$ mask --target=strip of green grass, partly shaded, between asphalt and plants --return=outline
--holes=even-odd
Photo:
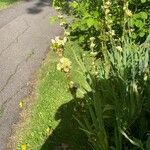
[[[75,45],[75,44],[74,44]],[[85,88],[87,84],[75,61],[72,46],[68,44],[65,56],[72,60],[72,79]],[[78,53],[80,52],[80,48]],[[29,150],[54,150],[64,144],[70,150],[90,149],[83,131],[79,129],[73,115],[80,102],[82,94],[78,92],[78,99],[73,100],[68,91],[68,81],[64,74],[57,71],[58,57],[50,52],[45,63],[38,72],[36,97],[27,111],[26,122],[17,131],[17,149],[27,144]]]

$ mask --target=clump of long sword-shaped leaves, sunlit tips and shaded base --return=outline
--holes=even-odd
[[[87,113],[78,122],[95,150],[148,150],[149,50],[128,40],[123,44],[122,52],[108,52],[109,63],[103,60],[96,71],[84,71],[91,92],[85,95]],[[86,64],[79,58],[78,63]]]

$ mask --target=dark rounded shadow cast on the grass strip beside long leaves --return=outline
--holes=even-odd
[[[76,98],[63,104],[57,110],[55,119],[60,120],[59,125],[47,138],[41,150],[91,150],[87,137],[79,129],[79,124],[74,116],[82,116],[83,99]]]

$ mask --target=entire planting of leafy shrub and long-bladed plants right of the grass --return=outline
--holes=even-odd
[[[77,120],[92,148],[149,150],[150,2],[64,3],[59,6],[73,15],[71,40],[90,55],[75,58],[91,87],[84,89],[85,114]]]

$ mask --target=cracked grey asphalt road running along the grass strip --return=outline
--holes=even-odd
[[[0,150],[6,150],[19,102],[29,94],[28,82],[47,54],[50,39],[62,33],[50,25],[57,13],[49,0],[30,0],[0,11]]]

